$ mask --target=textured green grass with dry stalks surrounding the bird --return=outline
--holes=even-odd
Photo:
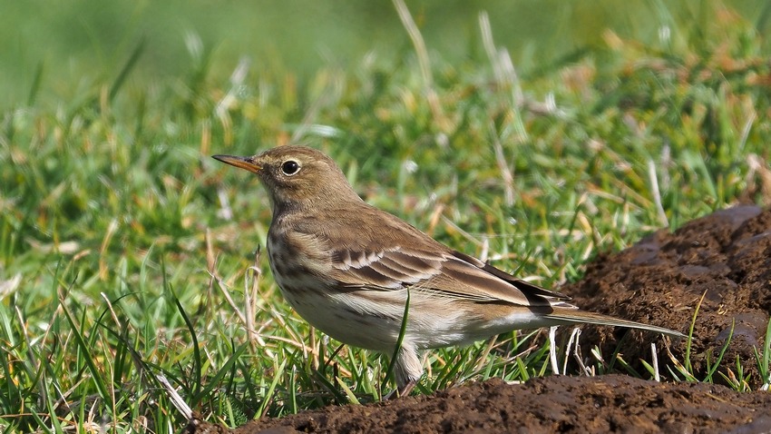
[[[157,374],[229,426],[392,387],[387,360],[281,300],[259,255],[267,195],[212,153],[309,143],[367,202],[547,287],[661,226],[767,201],[767,163],[752,163],[771,143],[765,24],[711,7],[706,27],[609,31],[526,76],[484,31],[486,54],[464,62],[408,46],[307,80],[222,74],[193,36],[190,70],[170,81],[132,82],[147,44],[55,104],[35,74],[0,124],[4,432],[177,432]],[[424,393],[551,371],[536,333],[426,357]],[[742,388],[741,367],[719,373]]]

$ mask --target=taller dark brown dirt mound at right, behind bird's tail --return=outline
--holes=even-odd
[[[755,349],[762,349],[771,311],[771,211],[739,206],[688,222],[674,233],[655,232],[623,252],[592,261],[584,279],[561,291],[588,311],[686,334],[703,295],[690,354],[697,379],[705,379],[708,364],[714,364],[730,337],[720,371],[736,373],[738,358],[749,375],[747,383],[756,389],[764,379]],[[663,339],[623,329],[585,330],[584,344],[599,345],[609,358],[620,350],[638,370],[640,359],[650,360],[650,341]],[[667,362],[661,343],[659,362]],[[671,343],[682,363],[687,343]],[[723,379],[716,374],[713,380]]]

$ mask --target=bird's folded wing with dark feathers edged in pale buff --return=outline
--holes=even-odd
[[[561,306],[569,297],[514,278],[460,252],[421,251],[394,246],[380,252],[333,252],[331,278],[348,288],[415,288],[438,297],[472,301],[507,301],[522,306]]]

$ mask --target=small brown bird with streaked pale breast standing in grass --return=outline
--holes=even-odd
[[[591,323],[681,333],[579,311],[570,297],[521,281],[434,241],[354,192],[327,155],[279,146],[251,157],[214,155],[268,189],[270,270],[299,315],[332,338],[393,354],[397,393],[423,374],[418,351],[518,329]]]

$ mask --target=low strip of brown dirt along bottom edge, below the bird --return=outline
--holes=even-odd
[[[771,394],[624,375],[473,383],[434,396],[255,420],[234,433],[288,432],[768,432]],[[227,432],[193,423],[191,432]]]

